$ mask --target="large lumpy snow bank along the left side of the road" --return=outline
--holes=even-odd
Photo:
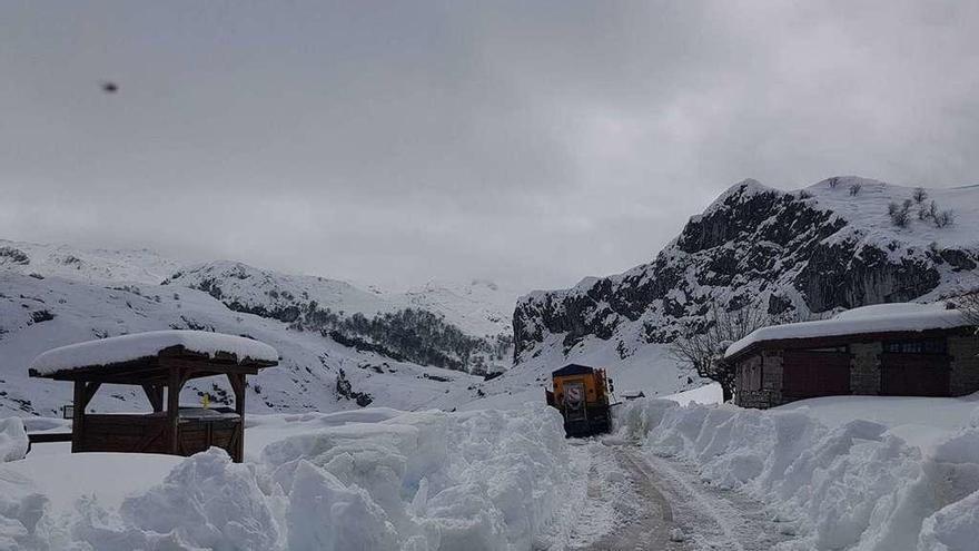
[[[556,411],[363,412],[255,416],[246,463],[211,449],[121,504],[46,504],[30,528],[0,510],[0,541],[109,551],[520,550],[566,499]],[[268,445],[256,450],[253,435]],[[0,482],[6,474],[0,468]]]

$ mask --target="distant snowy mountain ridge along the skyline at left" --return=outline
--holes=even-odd
[[[522,293],[485,279],[462,284],[432,281],[395,293],[373,285],[360,288],[339,279],[283,274],[238,262],[188,264],[149,249],[87,249],[7,239],[0,239],[0,269],[90,283],[156,285],[169,281],[196,288],[218,284],[227,296],[246,307],[271,312],[295,305],[297,301],[290,297],[317,301],[334,312],[365,316],[413,307],[444,316],[467,335],[491,338],[513,333],[513,307]]]

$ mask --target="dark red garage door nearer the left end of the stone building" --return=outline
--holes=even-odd
[[[790,400],[850,394],[850,354],[785,351],[782,395]]]

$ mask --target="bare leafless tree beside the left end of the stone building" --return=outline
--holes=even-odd
[[[704,323],[692,327],[670,345],[671,355],[681,364],[694,370],[698,375],[716,381],[724,393],[724,402],[734,396],[736,373],[733,365],[724,363],[724,351],[734,341],[740,341],[754,329],[770,324],[769,316],[761,309],[745,306],[728,311],[712,301],[704,316]]]

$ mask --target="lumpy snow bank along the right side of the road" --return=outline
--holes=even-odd
[[[799,534],[782,549],[956,550],[979,541],[977,423],[924,449],[880,423],[830,429],[805,410],[637,400],[619,424],[620,436],[649,453],[693,461],[705,482],[771,505]]]

